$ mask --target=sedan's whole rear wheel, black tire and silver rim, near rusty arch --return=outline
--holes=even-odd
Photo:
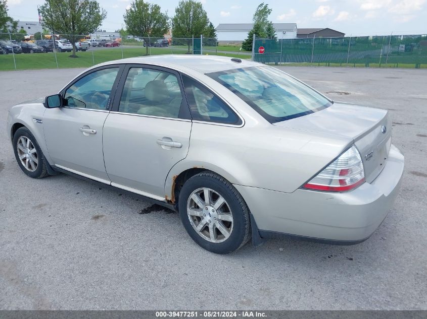
[[[215,253],[237,250],[250,238],[245,201],[229,181],[213,172],[201,172],[184,183],[179,216],[193,240]]]

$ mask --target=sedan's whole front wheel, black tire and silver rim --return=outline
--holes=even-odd
[[[20,127],[13,136],[15,158],[22,171],[32,178],[49,175],[40,147],[26,127]]]

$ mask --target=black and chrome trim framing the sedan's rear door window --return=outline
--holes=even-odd
[[[165,72],[165,73],[172,74],[176,77],[176,79],[178,80],[179,89],[181,90],[181,95],[182,95],[182,101],[181,101],[181,106],[179,107],[178,117],[165,117],[165,116],[156,116],[156,115],[148,115],[148,114],[126,113],[126,112],[120,112],[119,111],[120,100],[121,100],[121,97],[123,94],[123,89],[124,89],[124,85],[125,85],[125,82],[127,79],[127,75],[129,73],[129,70],[132,68],[150,69],[150,70],[154,70],[154,71]],[[138,116],[143,116],[143,117],[153,117],[153,118],[163,118],[163,119],[192,120],[191,112],[190,112],[190,109],[189,109],[189,106],[187,103],[187,99],[185,96],[184,86],[183,86],[182,79],[180,77],[179,72],[172,70],[172,69],[168,69],[168,68],[148,65],[145,63],[129,63],[126,65],[126,67],[123,69],[121,79],[120,79],[118,86],[117,86],[117,90],[116,90],[114,100],[111,104],[112,104],[112,107],[111,107],[110,111],[113,113],[117,113],[117,114],[138,115]]]

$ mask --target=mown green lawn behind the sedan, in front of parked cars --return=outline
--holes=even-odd
[[[174,54],[185,54],[186,48],[173,48]],[[171,54],[172,48],[149,48],[151,55]],[[220,55],[239,58],[250,58],[250,55],[239,55],[234,53],[217,53],[213,51],[206,52],[209,55]],[[121,48],[88,50],[86,52],[78,52],[78,57],[69,57],[71,53],[57,53],[58,68],[88,68],[98,63],[117,60],[127,57],[143,56],[146,54],[146,48],[123,48],[123,56]],[[35,70],[35,69],[56,69],[57,62],[55,55],[52,52],[48,53],[33,53],[33,54],[15,54],[17,70]],[[14,59],[12,54],[0,55],[0,71],[15,70]]]

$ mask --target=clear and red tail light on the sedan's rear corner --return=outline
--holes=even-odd
[[[326,192],[348,192],[365,181],[362,158],[353,145],[313,177],[303,188]]]

